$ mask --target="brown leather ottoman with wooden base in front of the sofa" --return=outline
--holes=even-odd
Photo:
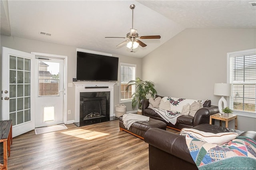
[[[160,129],[166,130],[166,123],[164,123],[163,121],[158,121],[156,119],[151,119],[151,118],[149,118],[148,122],[138,121],[133,123],[128,130],[126,127],[124,127],[122,119],[123,119],[123,116],[120,116],[119,117],[120,130],[121,131],[124,130],[125,132],[128,132],[143,140],[144,140],[144,134],[150,128],[160,128]]]

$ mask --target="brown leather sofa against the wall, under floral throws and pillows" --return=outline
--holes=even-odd
[[[158,95],[156,95],[156,97],[158,97]],[[160,97],[162,98],[162,96]],[[175,125],[172,125],[172,123],[164,121],[164,119],[162,119],[155,111],[148,108],[148,99],[142,100],[140,101],[140,103],[142,104],[142,115],[163,121],[164,123],[166,123],[168,128],[172,128],[174,130],[181,130],[182,128],[192,128],[203,123],[209,123],[210,115],[219,112],[218,106],[212,106],[211,101],[208,100],[203,104],[203,108],[199,109],[196,112],[196,115],[194,117],[189,115],[180,116],[177,118],[177,123]]]

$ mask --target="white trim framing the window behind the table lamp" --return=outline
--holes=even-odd
[[[230,83],[230,57],[233,57],[235,55],[250,55],[250,54],[256,54],[256,48],[227,53],[227,83]],[[231,107],[230,105],[231,97],[227,97],[227,101],[228,101],[228,106]],[[233,113],[238,116],[256,118],[256,113],[254,112],[233,111]]]

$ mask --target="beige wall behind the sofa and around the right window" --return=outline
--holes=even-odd
[[[153,81],[158,95],[218,105],[213,87],[227,82],[227,53],[252,48],[256,29],[186,29],[142,59],[142,79]],[[256,119],[238,117],[238,129],[256,130]]]

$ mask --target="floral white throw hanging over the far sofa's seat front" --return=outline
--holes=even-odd
[[[155,111],[160,117],[162,117],[166,122],[172,123],[172,125],[175,125],[177,122],[177,118],[182,116],[180,113],[173,113],[171,111],[167,111],[164,109],[158,109],[154,107],[150,107],[153,111]]]

